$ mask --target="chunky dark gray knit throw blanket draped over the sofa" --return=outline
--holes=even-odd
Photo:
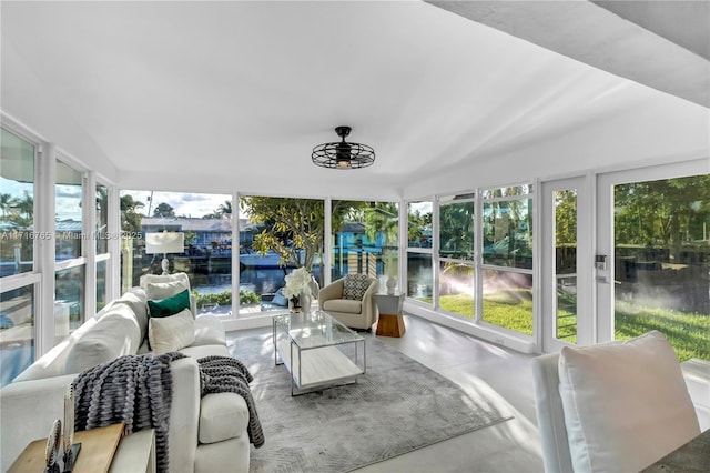
[[[159,472],[170,470],[168,432],[172,403],[170,363],[185,358],[171,352],[161,355],[120,356],[80,373],[74,385],[74,429],[83,431],[124,423],[128,433],[155,429],[155,463]],[[248,436],[254,446],[264,444],[246,366],[227,356],[199,359],[201,394],[234,392],[244,397],[250,411]]]

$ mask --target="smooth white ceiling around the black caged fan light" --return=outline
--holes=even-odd
[[[128,189],[373,198],[424,183],[459,190],[505,182],[480,172],[494,172],[494,162],[505,163],[506,179],[564,172],[567,164],[530,173],[531,150],[549,149],[542,143],[576,137],[559,149],[568,163],[569,147],[625,141],[645,127],[638,147],[623,143],[629,159],[665,147],[707,157],[707,107],[425,2],[0,8],[2,111]],[[348,141],[375,149],[374,165],[311,163],[312,148],[336,141],[341,124],[353,128]],[[676,131],[672,143],[659,127]],[[607,154],[570,165],[618,162]],[[463,170],[474,172],[464,179]]]

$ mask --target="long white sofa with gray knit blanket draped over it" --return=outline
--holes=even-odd
[[[47,436],[52,422],[63,417],[64,392],[79,372],[121,355],[148,351],[148,324],[145,292],[134,288],[0,390],[2,471],[30,441]],[[171,363],[170,471],[248,471],[246,402],[234,393],[200,396],[196,360],[230,356],[220,320],[197,316],[194,342],[179,351],[187,358]]]

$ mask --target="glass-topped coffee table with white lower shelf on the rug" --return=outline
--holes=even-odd
[[[275,315],[273,325],[274,363],[291,373],[291,395],[357,382],[365,373],[365,339],[327,312]]]

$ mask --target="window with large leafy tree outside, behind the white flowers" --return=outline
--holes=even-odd
[[[310,268],[323,286],[325,204],[320,199],[240,198],[240,292],[255,294],[256,306],[242,303],[240,313],[286,310],[284,278]],[[240,295],[242,299],[242,295]]]

